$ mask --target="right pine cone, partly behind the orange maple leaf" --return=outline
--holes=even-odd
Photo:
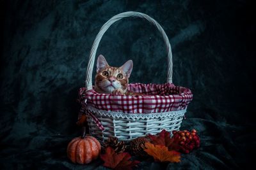
[[[149,139],[145,137],[133,139],[130,143],[131,152],[134,155],[138,155],[141,157],[147,156],[147,153],[144,151],[144,149],[145,149],[145,143],[148,141]]]

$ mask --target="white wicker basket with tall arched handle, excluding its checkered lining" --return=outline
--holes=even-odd
[[[88,62],[87,72],[86,72],[86,89],[91,90],[92,87],[92,71],[95,61],[95,55],[97,48],[99,46],[100,39],[102,38],[104,32],[108,30],[110,25],[114,22],[126,18],[126,17],[139,17],[148,20],[151,24],[155,25],[156,28],[161,32],[164,43],[168,52],[168,73],[167,73],[167,82],[172,83],[172,50],[169,43],[169,39],[166,36],[162,27],[154,20],[153,18],[145,15],[143,13],[128,11],[125,13],[120,13],[115,15],[108,20],[100,29],[97,34],[95,41],[93,42],[92,50],[90,52],[90,59]],[[184,113],[186,113],[186,108],[183,110],[177,111],[168,111],[162,113],[138,113],[138,114],[129,114],[129,113],[120,113],[113,111],[99,110],[91,106],[87,107],[87,110],[90,111],[102,124],[104,131],[101,131],[93,120],[90,114],[88,114],[88,126],[90,129],[90,134],[100,141],[108,139],[108,137],[117,137],[121,141],[131,141],[131,139],[145,136],[146,134],[156,134],[162,129],[166,131],[179,130],[182,118]]]

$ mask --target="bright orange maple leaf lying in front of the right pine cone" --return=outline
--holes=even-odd
[[[180,162],[180,153],[174,150],[168,151],[168,148],[163,145],[154,145],[152,143],[145,143],[145,152],[154,157],[158,162]]]

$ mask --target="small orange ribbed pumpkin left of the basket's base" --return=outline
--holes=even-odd
[[[101,146],[92,136],[74,138],[67,147],[68,158],[78,164],[88,164],[98,158]]]

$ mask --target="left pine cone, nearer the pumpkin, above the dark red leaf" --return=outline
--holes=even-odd
[[[113,148],[116,153],[123,153],[127,148],[124,141],[118,142],[118,138],[111,138],[111,137],[109,137],[108,140],[104,143],[104,148],[107,148],[108,146]]]

